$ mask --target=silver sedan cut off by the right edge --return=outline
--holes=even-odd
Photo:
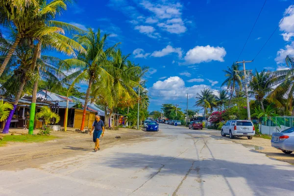
[[[294,127],[272,133],[271,146],[282,150],[285,154],[291,154],[294,151]]]

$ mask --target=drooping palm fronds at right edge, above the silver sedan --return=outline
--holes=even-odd
[[[281,98],[286,98],[287,102],[283,105],[285,110],[293,111],[294,100],[294,58],[287,55],[285,58],[286,65],[290,68],[288,70],[275,71],[273,73],[274,80],[271,82],[275,88],[270,92],[269,99],[271,102],[277,102],[277,105],[282,105],[283,101],[278,101]]]

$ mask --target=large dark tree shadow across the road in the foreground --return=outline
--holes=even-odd
[[[294,167],[291,165],[245,164],[238,160],[236,162],[214,158],[196,160],[141,153],[120,153],[114,158],[105,160],[104,164],[119,169],[148,167],[153,172],[160,169],[161,175],[172,174],[183,177],[190,170],[189,176],[197,179],[199,179],[199,176],[202,179],[203,177],[211,179],[222,176],[227,186],[226,189],[229,189],[232,195],[235,195],[237,190],[240,191],[238,187],[232,185],[232,182],[234,184],[234,181],[238,178],[239,180],[240,178],[246,180],[244,186],[248,186],[248,189],[251,189],[254,195],[270,196],[277,193],[277,190],[281,195],[285,193],[294,195]],[[205,184],[206,182],[202,181],[201,183]]]

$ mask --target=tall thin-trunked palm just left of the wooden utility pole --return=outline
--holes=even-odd
[[[231,104],[231,99],[234,94],[234,90],[237,86],[239,86],[242,89],[242,72],[240,72],[241,65],[238,63],[233,63],[231,67],[228,67],[228,70],[223,70],[225,73],[225,76],[227,77],[224,82],[221,84],[221,86],[226,85],[227,89],[230,89],[230,100],[229,105]]]

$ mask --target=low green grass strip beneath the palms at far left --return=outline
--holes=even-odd
[[[24,143],[34,143],[34,142],[46,142],[57,138],[52,135],[4,135],[2,140],[0,140],[0,147],[5,146],[7,142],[24,142]]]

